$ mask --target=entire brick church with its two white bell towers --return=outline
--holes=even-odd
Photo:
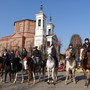
[[[48,53],[51,44],[54,44],[59,53],[59,42],[54,34],[54,27],[52,17],[46,25],[46,15],[43,13],[43,6],[40,5],[36,21],[25,19],[14,22],[14,34],[0,40],[0,51],[5,48],[8,50],[19,49],[20,51],[22,48],[26,48],[27,51],[30,51],[33,46],[38,46],[39,49],[43,46],[43,53],[46,51]]]

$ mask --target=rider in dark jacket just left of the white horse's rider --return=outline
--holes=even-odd
[[[42,60],[42,53],[37,46],[33,48],[32,58],[35,64],[40,63],[38,60]]]

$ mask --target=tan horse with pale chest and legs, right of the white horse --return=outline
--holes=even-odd
[[[69,74],[71,74],[71,80],[73,79],[73,82],[76,83],[75,80],[75,68],[76,68],[76,61],[73,59],[71,55],[71,50],[67,50],[65,52],[66,54],[66,80],[65,84],[67,84],[67,80],[69,77]]]

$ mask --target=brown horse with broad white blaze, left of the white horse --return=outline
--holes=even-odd
[[[33,75],[33,84],[35,84],[35,76],[36,76],[35,74],[36,73],[39,73],[39,81],[40,81],[41,73],[43,74],[43,77],[45,75],[46,65],[43,60],[41,61],[41,63],[37,64],[35,63],[34,59],[27,56],[23,59],[23,66],[24,66],[24,70],[27,70],[27,73],[28,73],[28,84],[30,83],[31,74]]]

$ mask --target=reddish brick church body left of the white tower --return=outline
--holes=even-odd
[[[30,51],[34,45],[35,26],[36,21],[29,19],[14,22],[14,34],[0,40],[0,50],[7,48],[21,51],[25,47]]]

